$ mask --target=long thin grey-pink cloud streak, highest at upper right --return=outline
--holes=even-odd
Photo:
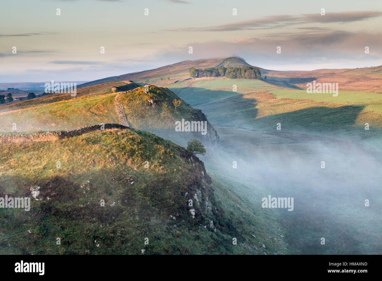
[[[207,26],[202,28],[179,28],[167,31],[238,31],[252,29],[283,28],[286,26],[306,24],[306,23],[345,23],[352,21],[362,21],[366,19],[382,16],[381,11],[348,11],[342,13],[326,13],[325,16],[316,14],[304,15],[275,15],[264,16],[259,19],[240,21],[217,26]]]

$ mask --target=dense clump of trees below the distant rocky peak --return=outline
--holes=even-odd
[[[261,71],[259,68],[250,66],[220,68],[209,67],[206,69],[191,67],[189,69],[189,74],[193,78],[226,76],[230,79],[261,79]]]

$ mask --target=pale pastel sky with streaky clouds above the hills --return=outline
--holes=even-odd
[[[233,55],[271,70],[382,65],[381,0],[2,0],[0,7],[0,83],[91,81]]]

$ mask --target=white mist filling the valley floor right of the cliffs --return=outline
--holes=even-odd
[[[298,134],[288,138],[274,131],[215,129],[221,149],[202,158],[207,171],[235,179],[239,193],[241,184],[267,188],[269,194],[250,198],[254,205],[269,195],[294,198],[293,211],[280,208],[278,213],[295,253],[382,253],[380,151],[366,149],[361,140],[299,140]]]

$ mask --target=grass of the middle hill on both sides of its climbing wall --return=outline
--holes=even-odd
[[[108,91],[105,87],[102,85],[98,92],[92,92],[95,86],[89,86],[75,98],[32,104],[28,108],[3,113],[0,132],[11,131],[13,123],[16,123],[18,132],[70,130],[94,123],[120,123],[114,104],[117,93],[102,94]],[[144,87],[136,89],[121,98],[130,127],[155,133],[183,146],[192,138],[203,139],[200,132],[175,132],[177,120],[207,120],[200,110],[185,101],[175,109],[172,102],[180,97],[167,88],[150,85],[149,93],[144,91]],[[157,99],[155,108],[148,98]]]

